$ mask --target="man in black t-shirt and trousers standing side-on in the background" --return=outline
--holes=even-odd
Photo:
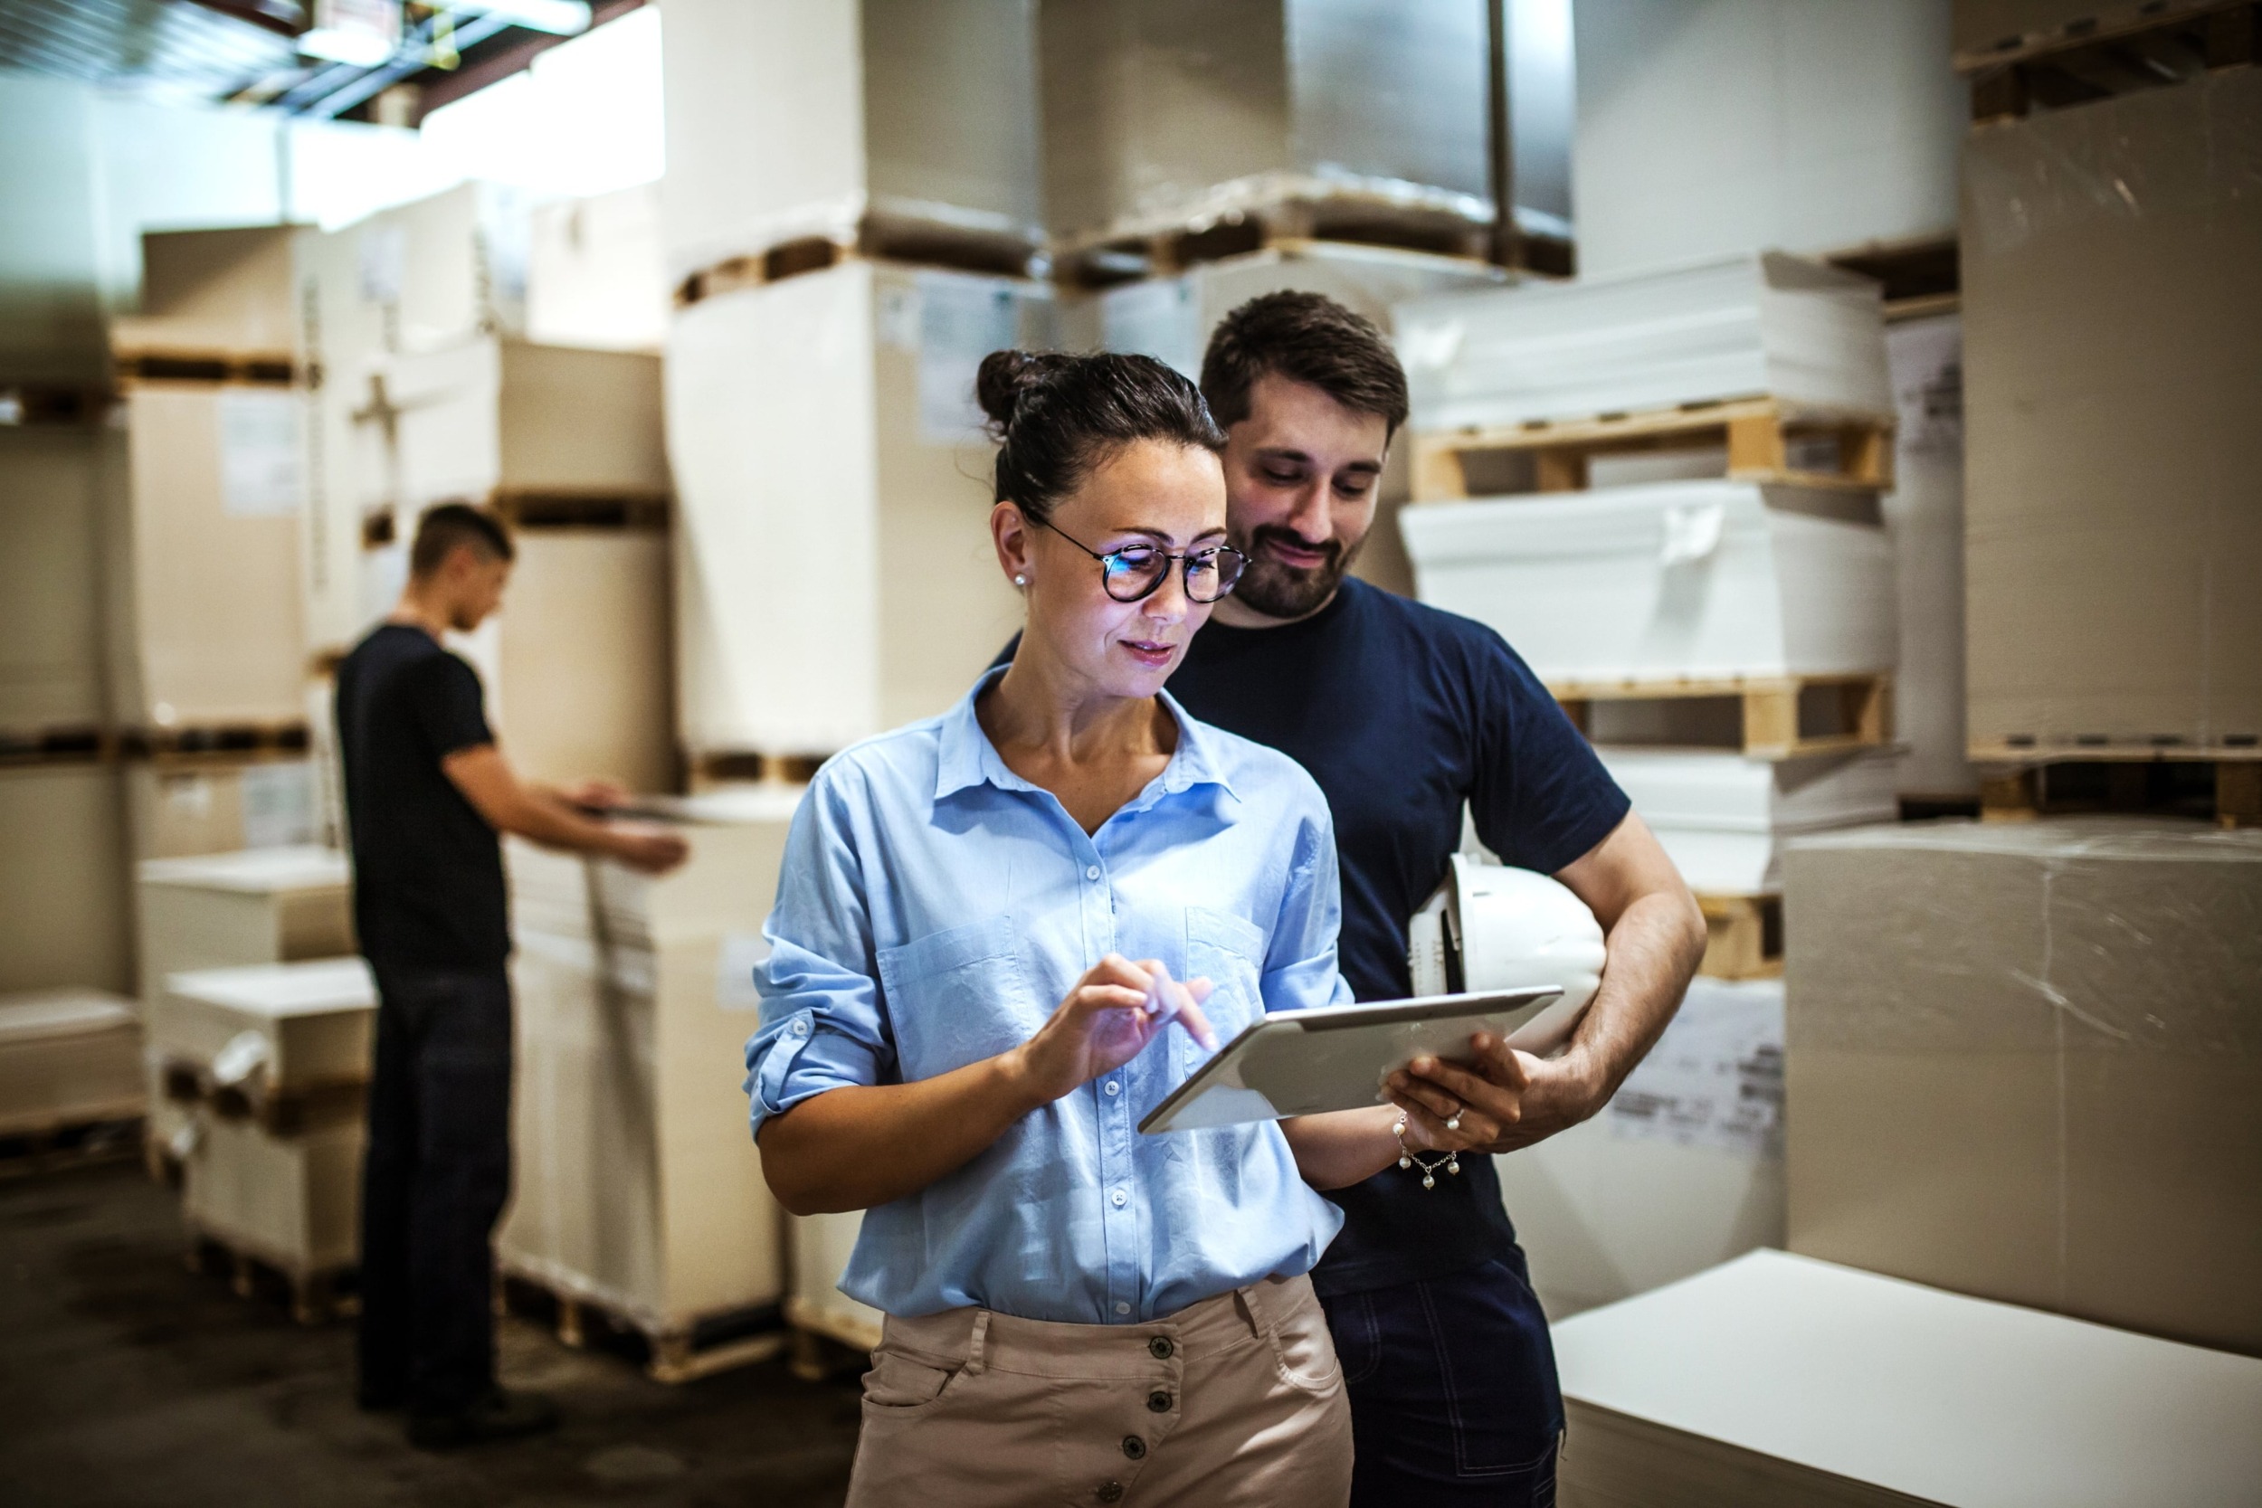
[[[502,832],[661,873],[683,839],[584,807],[615,787],[523,782],[480,676],[441,638],[500,604],[511,538],[464,504],[423,515],[409,583],[337,667],[353,920],[378,979],[362,1182],[360,1402],[409,1409],[430,1449],[550,1429],[495,1381],[493,1230],[511,1185],[511,952]]]

